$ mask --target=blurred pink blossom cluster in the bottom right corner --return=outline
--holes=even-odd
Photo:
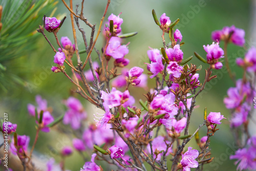
[[[242,148],[238,149],[234,155],[229,157],[230,160],[238,159],[234,164],[238,164],[237,169],[256,169],[256,161],[254,160],[256,157],[256,150],[253,148]]]

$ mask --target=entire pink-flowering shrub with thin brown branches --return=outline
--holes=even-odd
[[[63,3],[68,7],[65,1]],[[28,151],[30,138],[26,135],[17,135],[15,131],[18,126],[8,123],[7,132],[13,134],[11,138],[13,155],[17,155],[22,161],[24,169],[33,170],[35,166],[32,154],[38,140],[38,133],[49,132],[51,127],[63,122],[73,131],[73,147],[64,146],[59,152],[63,159],[71,156],[74,150],[82,157],[84,157],[84,152],[90,153],[91,161],[84,158],[85,163],[81,165],[80,170],[103,170],[97,164],[97,160],[116,165],[118,170],[146,170],[146,167],[151,167],[153,170],[190,170],[190,168],[202,170],[204,164],[214,160],[210,153],[210,137],[219,130],[218,124],[221,124],[222,119],[226,119],[224,117],[226,114],[221,115],[218,111],[208,114],[205,108],[202,117],[199,118],[201,124],[198,129],[191,130],[189,125],[191,117],[194,117],[196,98],[210,80],[216,79],[217,75],[212,75],[212,70],[222,69],[221,58],[226,58],[229,75],[231,79],[234,78],[228,68],[226,47],[229,42],[243,46],[244,31],[234,26],[214,31],[212,39],[217,42],[202,46],[206,52],[205,57],[194,53],[207,68],[205,79],[201,83],[198,72],[202,66],[188,63],[192,56],[186,58],[182,52],[184,45],[184,42],[181,42],[182,33],[178,29],[175,30],[179,19],[171,22],[170,18],[163,13],[159,23],[154,10],[152,11],[153,18],[159,26],[159,31],[162,32],[163,45],[147,51],[149,59],[148,63],[145,61],[147,70],[129,66],[130,61],[125,58],[125,55],[129,53],[129,44],[122,45],[122,39],[137,33],[122,34],[121,24],[125,21],[120,18],[120,14],[118,16],[111,14],[108,17],[108,22],[105,23],[102,31],[102,36],[105,38],[102,53],[96,50],[99,60],[93,61],[92,51],[96,49],[96,41],[100,35],[109,3],[110,1],[106,5],[97,35],[94,39],[90,39],[89,43],[79,22],[83,21],[92,28],[92,35],[94,35],[95,25],[90,24],[82,13],[80,15],[77,14],[78,12],[75,13],[72,6],[68,7],[68,10],[71,14],[74,44],[68,37],[61,37],[59,42],[57,33],[65,18],[60,21],[55,17],[45,16],[44,27],[39,26],[37,29],[45,36],[55,53],[53,61],[56,66],[53,66],[51,70],[55,74],[64,74],[76,86],[76,93],[104,112],[89,114],[77,98],[69,97],[63,101],[67,107],[65,114],[59,118],[53,118],[52,111],[47,106],[47,100],[36,96],[37,106],[28,104],[28,112],[35,118],[37,130],[30,152]],[[77,25],[84,38],[86,58],[82,57],[78,49],[76,39],[78,33],[74,24]],[[54,34],[59,46],[58,51],[48,40],[45,30]],[[165,42],[166,34],[170,41],[169,44]],[[220,47],[219,41],[224,41],[224,50]],[[238,66],[242,67],[245,73],[255,71],[255,52],[252,48],[244,59],[237,59]],[[72,60],[74,54],[77,59],[76,65]],[[87,65],[90,66],[90,70],[84,71]],[[66,72],[67,69],[71,70],[71,74]],[[144,94],[144,100],[135,99],[130,94],[129,88],[132,86],[146,87],[146,74],[156,82],[156,86]],[[238,169],[240,170],[256,168],[255,137],[250,136],[247,130],[255,97],[253,85],[252,80],[244,74],[242,79],[236,81],[236,87],[228,90],[228,97],[224,98],[226,108],[231,109],[232,112],[232,117],[229,119],[232,131],[239,135],[241,125],[243,125],[246,135],[245,139],[245,136],[236,137],[240,149],[230,156],[230,159],[238,159],[236,164],[239,163]],[[125,90],[118,90],[122,87]],[[94,116],[95,122],[87,122],[89,116]],[[163,129],[164,133],[160,129]],[[201,139],[200,129],[207,131]],[[4,126],[2,131],[5,131]],[[194,137],[197,146],[188,146],[188,142]],[[241,140],[243,144],[240,143],[240,139],[243,139]],[[65,170],[63,162],[64,160],[59,166],[61,170]],[[51,159],[47,164],[47,170],[55,170],[55,168],[60,169]]]

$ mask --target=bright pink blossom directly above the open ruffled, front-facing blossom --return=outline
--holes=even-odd
[[[180,50],[180,45],[175,45],[174,48],[165,49],[165,52],[170,61],[180,62],[183,59],[183,52]]]

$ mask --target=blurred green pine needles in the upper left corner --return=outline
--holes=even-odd
[[[2,29],[0,31],[0,87],[7,92],[16,82],[25,85],[17,73],[9,69],[12,60],[22,57],[35,50],[35,42],[39,36],[36,28],[42,20],[42,15],[52,11],[56,5],[53,0],[1,0],[3,7]]]

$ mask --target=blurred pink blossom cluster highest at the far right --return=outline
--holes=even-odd
[[[229,40],[234,45],[237,45],[237,46],[244,46],[245,44],[244,36],[245,36],[244,30],[236,28],[234,26],[224,27],[222,30],[216,30],[211,33],[212,40],[214,41]]]

